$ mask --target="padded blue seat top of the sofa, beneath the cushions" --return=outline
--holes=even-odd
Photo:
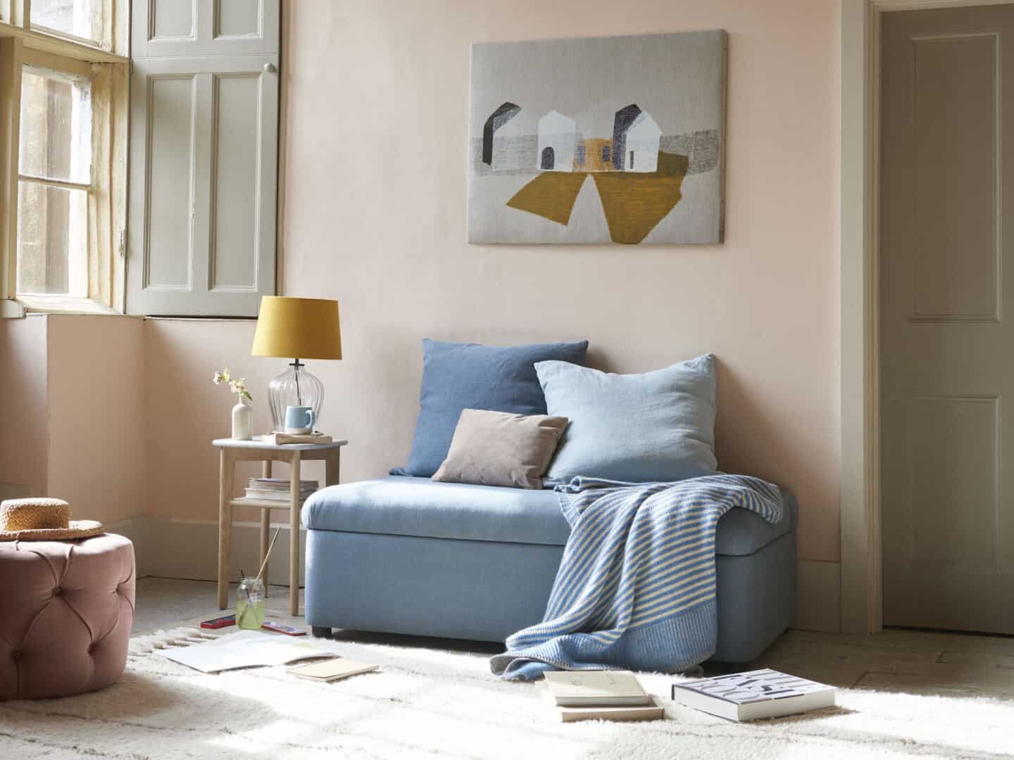
[[[722,517],[715,553],[752,554],[795,530],[796,500],[785,491],[782,497],[785,509],[777,523],[746,510],[731,510]],[[428,477],[384,477],[322,488],[306,500],[303,525],[321,531],[551,546],[563,546],[570,536],[570,524],[553,490],[443,483]]]

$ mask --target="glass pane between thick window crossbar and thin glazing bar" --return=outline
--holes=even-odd
[[[82,184],[91,181],[90,82],[25,67],[18,171]]]

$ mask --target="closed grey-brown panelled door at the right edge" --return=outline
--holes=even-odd
[[[1014,6],[881,43],[883,619],[1014,633]]]

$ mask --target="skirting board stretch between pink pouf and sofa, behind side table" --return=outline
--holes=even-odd
[[[268,583],[289,585],[289,526],[281,528],[268,565]],[[182,578],[191,581],[214,581],[218,578],[218,521],[174,520],[162,517],[135,517],[106,525],[110,533],[119,533],[134,542],[137,576]],[[255,522],[232,524],[232,552],[229,580],[238,581],[242,568],[252,576],[260,566],[261,525]],[[306,531],[299,531],[299,585],[303,585],[306,559]]]

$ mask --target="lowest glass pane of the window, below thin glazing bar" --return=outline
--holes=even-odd
[[[88,194],[20,181],[17,292],[88,295]]]

